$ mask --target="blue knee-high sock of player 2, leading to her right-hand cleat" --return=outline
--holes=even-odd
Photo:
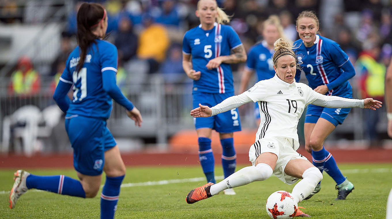
[[[335,180],[336,185],[339,185],[345,181],[345,177],[340,172],[338,165],[336,165],[336,161],[332,154],[323,149],[319,151],[312,150],[312,163],[314,166],[318,167],[322,172],[322,169]],[[322,169],[321,169],[322,168]]]

